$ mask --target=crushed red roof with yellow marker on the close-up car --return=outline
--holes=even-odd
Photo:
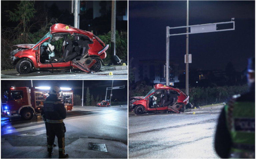
[[[50,29],[50,33],[78,33],[78,34],[83,34],[88,36],[90,39],[93,38],[93,33],[88,32],[88,31],[84,31],[75,27],[72,27],[70,25],[66,25],[66,24],[61,24],[61,23],[57,23],[57,24],[53,24],[51,26]]]

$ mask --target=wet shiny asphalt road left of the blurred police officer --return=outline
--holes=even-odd
[[[129,158],[219,158],[213,144],[220,110],[129,112]]]

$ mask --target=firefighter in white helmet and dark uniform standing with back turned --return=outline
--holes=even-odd
[[[64,104],[58,99],[59,93],[62,92],[60,87],[52,86],[49,90],[49,97],[44,102],[44,113],[46,117],[46,126],[48,131],[48,153],[49,157],[53,153],[53,144],[55,136],[58,138],[59,158],[68,158],[65,154],[65,132],[66,127],[63,119],[66,118],[67,112]]]

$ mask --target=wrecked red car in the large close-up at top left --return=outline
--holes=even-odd
[[[15,46],[18,49],[11,52],[10,58],[20,74],[27,74],[34,69],[71,68],[97,72],[109,47],[93,33],[65,24],[52,25],[50,31],[36,44]]]

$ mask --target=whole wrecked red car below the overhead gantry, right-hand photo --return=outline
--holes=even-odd
[[[184,112],[189,96],[176,88],[156,84],[145,97],[132,97],[129,102],[129,111],[135,114],[145,112]]]

